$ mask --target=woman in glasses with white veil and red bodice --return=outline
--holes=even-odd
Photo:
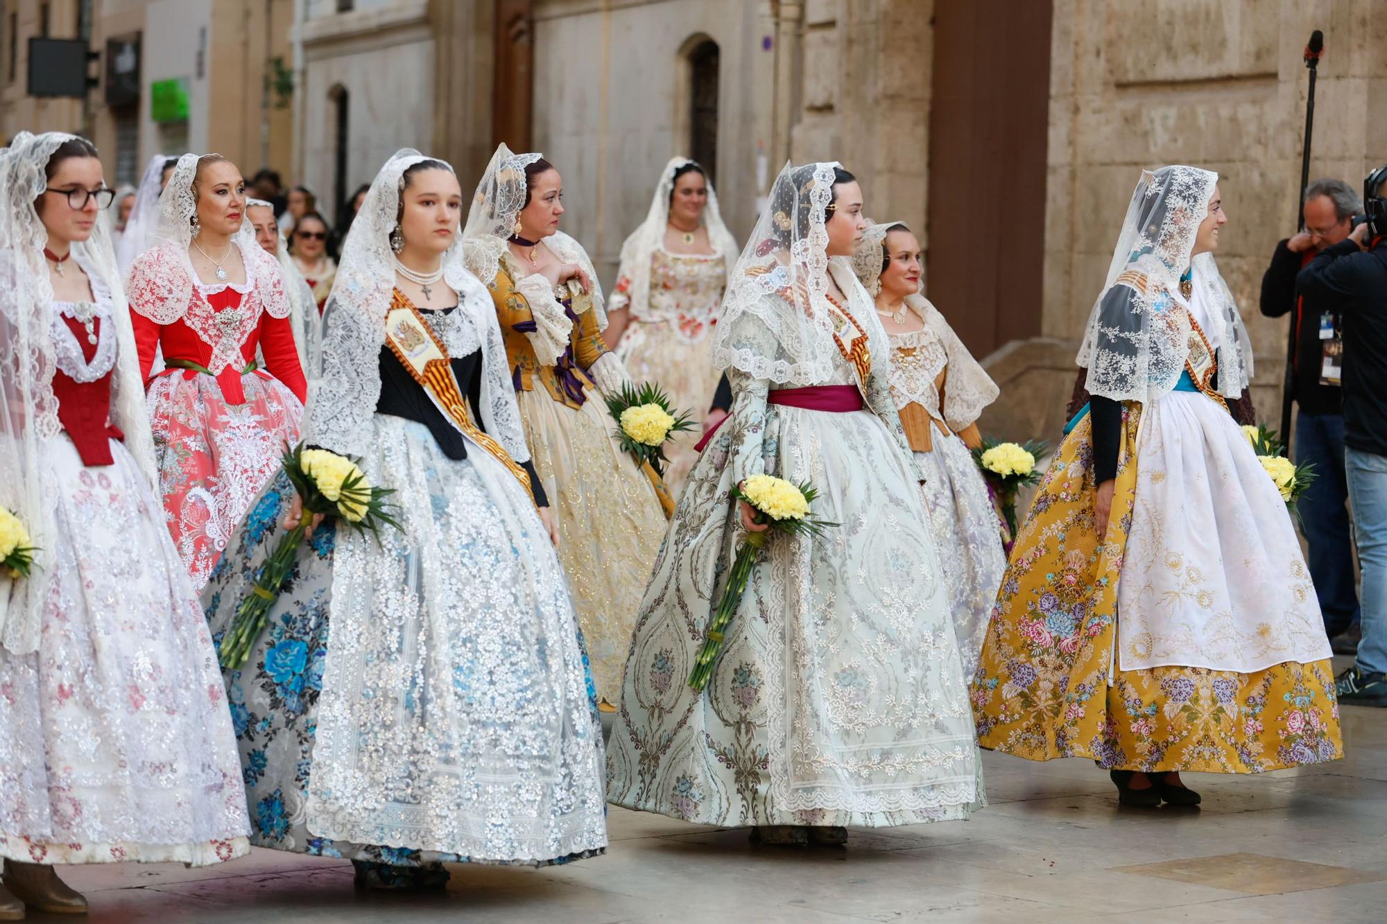
[[[0,918],[80,913],[60,863],[247,852],[216,656],[154,493],[144,388],[86,139],[0,151]],[[8,891],[7,891],[8,889]]]

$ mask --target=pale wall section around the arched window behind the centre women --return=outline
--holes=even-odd
[[[771,137],[767,11],[764,0],[535,3],[534,146],[563,175],[563,228],[588,248],[603,284],[660,169],[685,153],[684,54],[705,36],[720,53],[717,194],[732,233],[750,232],[757,157]]]

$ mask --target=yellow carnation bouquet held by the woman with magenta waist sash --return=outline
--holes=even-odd
[[[748,533],[742,544],[736,548],[732,559],[732,570],[727,576],[723,595],[713,610],[713,619],[707,624],[703,647],[694,658],[694,671],[689,674],[689,687],[703,690],[713,677],[713,662],[723,648],[727,627],[736,613],[742,594],[746,591],[746,581],[752,576],[752,566],[760,556],[760,551],[770,542],[771,536],[818,536],[825,526],[838,526],[825,520],[817,520],[810,515],[810,506],[818,491],[813,484],[793,484],[785,479],[771,474],[753,474],[739,486],[732,488],[732,504],[746,501],[756,516],[756,523],[766,523],[770,529],[764,533]]]

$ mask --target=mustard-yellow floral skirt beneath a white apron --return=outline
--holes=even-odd
[[[1123,411],[1099,541],[1090,418],[1060,444],[1017,533],[972,683],[978,744],[1117,770],[1262,773],[1343,756],[1327,660],[1241,674],[1118,670],[1118,574],[1132,526],[1140,408]]]

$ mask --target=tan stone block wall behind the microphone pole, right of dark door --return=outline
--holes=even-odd
[[[1258,413],[1275,426],[1287,322],[1259,315],[1258,290],[1295,223],[1302,49],[1325,32],[1311,178],[1358,185],[1387,157],[1384,12],[1381,0],[1056,0],[1043,333],[1076,345],[1143,168],[1218,171],[1218,262],[1252,334]]]

